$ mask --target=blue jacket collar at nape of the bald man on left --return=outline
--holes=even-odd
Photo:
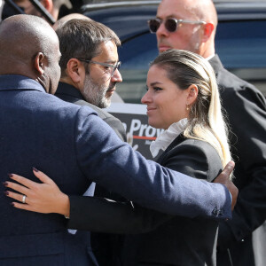
[[[39,90],[46,92],[40,83],[20,74],[0,75],[0,90]]]

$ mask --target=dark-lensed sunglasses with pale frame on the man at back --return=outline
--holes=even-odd
[[[148,25],[150,27],[151,33],[156,33],[158,28],[160,27],[160,24],[163,22],[163,20],[160,19],[153,19],[148,20]],[[175,32],[177,27],[179,25],[182,25],[184,23],[188,24],[206,24],[205,21],[192,21],[192,20],[176,20],[176,19],[167,19],[164,21],[164,27],[168,30],[168,32]]]

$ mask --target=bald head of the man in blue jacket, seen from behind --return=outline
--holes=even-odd
[[[59,39],[43,19],[15,15],[1,23],[0,74],[26,75],[52,92],[59,82],[59,56]]]

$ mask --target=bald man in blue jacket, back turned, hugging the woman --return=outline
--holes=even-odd
[[[145,160],[90,107],[52,96],[59,82],[59,58],[58,37],[44,20],[17,15],[1,23],[2,182],[11,172],[35,180],[31,171],[35,166],[52,176],[66,194],[82,195],[94,181],[172,215],[231,217],[231,197],[223,184],[194,180]],[[231,190],[233,206],[237,191],[226,176],[222,179]],[[63,215],[42,215],[13,208],[4,194],[14,193],[0,194],[1,265],[95,265],[87,234],[66,231],[67,196],[59,200]],[[29,196],[24,187],[16,200],[27,208]]]

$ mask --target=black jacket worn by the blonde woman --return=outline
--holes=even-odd
[[[176,137],[158,162],[208,182],[222,171],[221,159],[211,145],[182,135]],[[74,228],[90,231],[142,233],[126,236],[121,265],[215,265],[217,222],[203,217],[163,215],[137,205],[109,205],[110,209],[101,214],[91,203],[79,205],[80,210],[72,208],[70,223]],[[223,215],[218,209],[214,212]]]

